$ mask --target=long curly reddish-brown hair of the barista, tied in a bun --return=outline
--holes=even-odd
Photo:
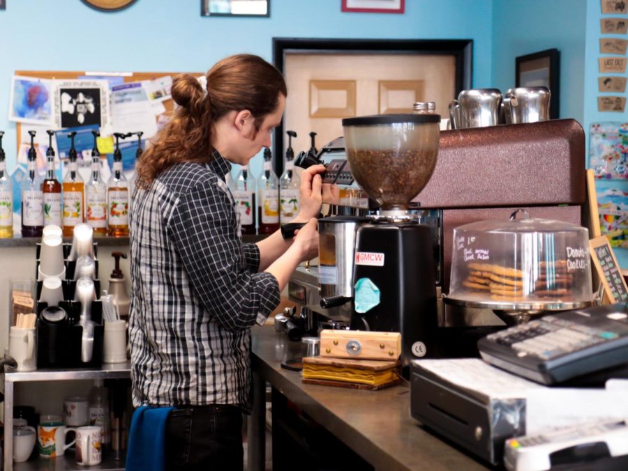
[[[277,109],[279,94],[287,96],[281,72],[251,54],[219,61],[205,78],[207,93],[191,75],[174,77],[172,99],[179,106],[138,160],[137,186],[149,187],[159,173],[179,162],[209,162],[214,123],[228,112],[248,109],[259,130],[264,117]]]

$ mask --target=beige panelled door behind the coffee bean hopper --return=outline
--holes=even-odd
[[[342,118],[311,117],[311,81],[354,81],[356,102],[354,116],[378,114],[380,81],[423,82],[426,101],[436,102],[436,112],[447,115],[447,104],[455,94],[454,56],[419,56],[414,54],[286,54],[284,75],[288,96],[284,123],[286,130],[297,132],[292,139],[295,153],[310,148],[308,133],[317,132],[316,145],[320,148],[343,134]],[[335,92],[322,93],[326,103],[338,100]],[[389,93],[389,99],[398,104],[410,95],[404,91]],[[321,103],[319,103],[321,106]],[[326,105],[327,106],[327,105]],[[394,105],[397,107],[397,105]],[[408,110],[412,103],[408,105]],[[284,143],[284,149],[287,140]]]

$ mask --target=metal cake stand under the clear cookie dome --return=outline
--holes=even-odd
[[[548,314],[551,311],[567,311],[569,309],[581,309],[593,304],[593,301],[530,301],[530,302],[505,302],[494,300],[461,300],[449,298],[445,295],[442,301],[446,304],[458,307],[475,309],[491,309],[506,325],[522,324],[530,321],[530,318]]]

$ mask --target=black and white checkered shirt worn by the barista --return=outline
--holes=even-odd
[[[231,166],[186,162],[137,189],[130,211],[133,405],[251,406],[251,327],[279,304],[277,279],[239,236]]]

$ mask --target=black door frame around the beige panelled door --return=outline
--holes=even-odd
[[[455,94],[472,88],[473,40],[384,40],[384,39],[317,39],[317,38],[273,38],[273,63],[283,72],[285,54],[290,52],[315,52],[321,54],[417,54],[442,55],[455,57],[456,78]],[[290,91],[288,91],[290,93]],[[452,97],[454,98],[454,97]],[[273,155],[275,171],[283,171],[283,137],[285,123],[282,121],[274,131]],[[327,143],[320,143],[327,144]],[[319,146],[320,147],[320,146]],[[299,149],[301,150],[301,149]]]

